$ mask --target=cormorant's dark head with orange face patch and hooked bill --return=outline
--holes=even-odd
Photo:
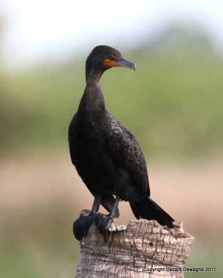
[[[94,47],[86,61],[86,72],[94,69],[105,70],[111,67],[128,67],[135,71],[135,65],[122,58],[122,54],[113,47],[108,47],[106,45],[99,45]]]

